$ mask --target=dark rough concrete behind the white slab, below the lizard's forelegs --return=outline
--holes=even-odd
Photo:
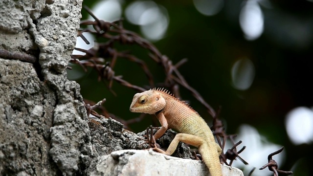
[[[125,130],[123,125],[112,118],[106,119],[90,119],[88,122],[90,128],[91,143],[98,155],[111,154],[114,151],[125,149],[142,150],[147,149],[148,145],[143,144],[144,141],[140,138],[145,138],[146,131],[135,134]],[[154,129],[156,132],[156,129]],[[157,140],[162,147],[168,147],[173,140],[176,132],[168,130],[165,134]],[[139,138],[140,137],[140,138]],[[178,150],[173,156],[180,158],[190,158],[189,147],[183,143],[179,143]],[[95,158],[96,159],[96,158]],[[89,168],[93,169],[93,168]]]

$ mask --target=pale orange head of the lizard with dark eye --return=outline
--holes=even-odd
[[[141,93],[136,93],[130,107],[131,112],[141,112],[155,114],[157,111],[165,107],[165,99],[161,94],[154,90],[147,90]]]

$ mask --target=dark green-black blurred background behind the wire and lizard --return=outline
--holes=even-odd
[[[124,1],[123,9],[131,2]],[[312,143],[292,144],[285,128],[285,117],[290,110],[313,106],[313,2],[271,0],[271,8],[261,6],[264,32],[253,41],[245,39],[239,24],[244,2],[225,0],[218,14],[204,16],[192,0],[156,1],[167,9],[170,22],[165,37],[154,44],[173,64],[188,58],[188,62],[179,68],[180,73],[215,110],[222,106],[220,116],[225,121],[227,133],[237,133],[242,124],[253,126],[271,143],[285,147],[284,162],[278,163],[280,169],[289,171],[292,168],[295,176],[313,175],[308,167]],[[95,3],[84,1],[90,8]],[[83,19],[88,16],[84,10],[82,14]],[[139,27],[127,20],[124,27],[140,34]],[[297,30],[299,27],[306,33]],[[301,43],[303,36],[309,42]],[[162,67],[148,57],[147,50],[133,46],[130,50],[148,64],[156,82],[164,80]],[[250,59],[255,67],[253,83],[247,90],[235,89],[231,80],[231,67],[242,58]],[[142,69],[130,61],[119,59],[114,71],[115,75],[123,75],[123,79],[134,85],[148,85]],[[76,81],[81,85],[84,98],[95,102],[106,98],[104,106],[115,116],[125,120],[138,117],[139,114],[129,111],[134,90],[113,83],[112,89],[117,94],[114,96],[103,82],[97,82],[94,71]],[[180,90],[182,98],[211,124],[212,117],[204,107],[189,91]],[[152,124],[151,117],[147,116],[131,128],[134,132],[145,130]],[[267,155],[264,158],[266,160]],[[258,169],[262,165],[255,167]]]

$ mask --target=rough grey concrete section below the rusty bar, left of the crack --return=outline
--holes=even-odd
[[[32,64],[3,59],[0,92],[0,175],[49,175],[56,169],[48,156],[55,95]]]

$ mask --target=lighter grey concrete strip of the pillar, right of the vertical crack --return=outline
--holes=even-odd
[[[45,82],[56,94],[49,155],[65,175],[81,173],[94,153],[87,114],[77,83],[67,80],[67,65],[75,46],[82,0],[54,0],[45,4],[36,24],[28,17],[29,32],[40,49],[39,63]],[[73,137],[75,136],[75,137]],[[81,158],[84,158],[81,159]]]

